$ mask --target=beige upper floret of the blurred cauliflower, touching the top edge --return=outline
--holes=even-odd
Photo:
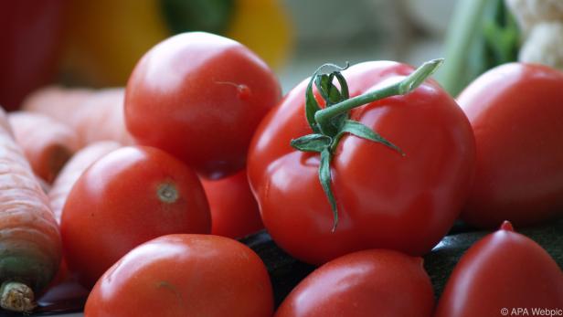
[[[542,22],[563,21],[563,0],[505,0],[525,35]]]

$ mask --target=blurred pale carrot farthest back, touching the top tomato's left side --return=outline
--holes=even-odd
[[[50,87],[24,100],[23,109],[47,114],[67,124],[77,132],[82,146],[102,140],[128,145],[133,144],[133,138],[127,132],[123,119],[124,95],[123,88],[83,90]]]

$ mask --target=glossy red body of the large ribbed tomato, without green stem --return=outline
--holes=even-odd
[[[366,62],[343,72],[351,96],[412,71],[404,64]],[[338,227],[318,180],[319,155],[290,141],[310,133],[304,115],[306,80],[260,123],[248,174],[264,226],[292,256],[313,264],[366,248],[427,253],[458,217],[474,164],[474,140],[463,112],[433,80],[406,96],[352,111],[396,144],[399,153],[345,135],[332,162]]]

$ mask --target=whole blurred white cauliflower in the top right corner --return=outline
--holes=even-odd
[[[520,27],[522,62],[563,69],[563,0],[505,0]]]

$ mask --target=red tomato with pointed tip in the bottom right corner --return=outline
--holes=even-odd
[[[462,256],[435,316],[540,316],[532,310],[558,309],[561,314],[562,308],[563,272],[558,264],[506,222]]]

